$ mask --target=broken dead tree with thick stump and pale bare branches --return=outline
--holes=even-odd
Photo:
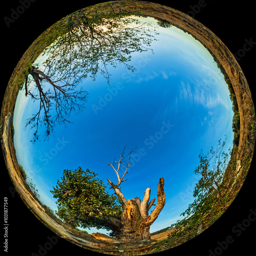
[[[160,211],[163,209],[165,204],[165,194],[164,194],[164,179],[160,178],[158,187],[157,187],[157,205],[150,215],[148,211],[150,208],[155,205],[155,198],[150,201],[151,189],[147,188],[144,193],[144,198],[141,201],[138,197],[134,199],[125,199],[122,194],[119,185],[127,180],[124,179],[127,169],[130,165],[131,154],[134,152],[133,148],[128,155],[125,155],[125,147],[122,154],[119,157],[119,161],[113,161],[109,163],[112,168],[115,170],[115,173],[118,178],[118,183],[114,184],[110,179],[108,179],[108,184],[115,190],[117,197],[119,198],[120,203],[122,204],[123,211],[121,215],[121,226],[118,230],[115,231],[116,238],[124,241],[131,240],[150,240],[150,226],[157,219]],[[121,165],[125,165],[125,171],[122,177],[119,176],[119,170]],[[117,166],[117,167],[116,167]]]

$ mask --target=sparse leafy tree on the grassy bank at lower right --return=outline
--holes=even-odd
[[[225,143],[226,140],[220,140],[216,149],[211,147],[206,155],[200,153],[200,164],[194,171],[201,176],[194,188],[195,200],[182,212],[181,216],[185,218],[172,225],[174,231],[168,236],[172,246],[195,237],[214,223],[227,208],[225,196],[228,190],[224,175],[228,167],[229,153],[223,151]]]

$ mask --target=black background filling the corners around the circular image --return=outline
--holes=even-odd
[[[60,18],[100,2],[102,1],[36,0],[8,28],[4,17],[10,17],[11,9],[16,10],[20,3],[19,1],[1,1],[1,101],[18,60],[36,37]],[[152,2],[167,5],[187,13],[191,10],[191,6],[198,5],[199,0],[169,1],[167,3],[163,1]],[[195,18],[214,32],[232,53],[237,53],[239,49],[243,48],[245,39],[250,40],[252,38],[252,41],[256,42],[256,2],[205,0],[205,3],[206,6],[201,8],[198,14],[195,14]],[[255,92],[256,71],[255,50],[256,45],[238,61],[253,95]],[[4,247],[1,248],[1,254],[3,250],[3,255],[22,256],[31,255],[33,252],[39,255],[39,245],[44,246],[48,242],[47,237],[52,237],[55,233],[32,214],[17,193],[14,194],[14,197],[12,196],[9,188],[13,187],[13,185],[2,156],[1,160],[2,200],[3,203],[4,197],[8,197],[9,200],[9,248],[8,253],[4,251]],[[255,167],[255,158],[252,166]],[[227,236],[231,235],[234,238],[234,242],[228,245],[228,248],[223,250],[221,255],[256,255],[256,221],[251,222],[251,225],[245,231],[242,231],[239,237],[236,237],[236,234],[231,231],[237,223],[242,223],[244,219],[248,218],[250,209],[255,210],[255,180],[255,170],[251,167],[238,196],[218,221],[195,239],[159,254],[207,256],[209,255],[209,250],[214,251],[216,246],[219,246],[217,244],[218,241],[222,242]],[[2,229],[2,232],[4,237],[4,229]],[[4,238],[2,241],[4,242]],[[217,251],[217,253],[219,252]],[[47,251],[46,255],[79,256],[90,255],[91,253],[90,250],[82,249],[64,239],[59,239],[57,244]]]

